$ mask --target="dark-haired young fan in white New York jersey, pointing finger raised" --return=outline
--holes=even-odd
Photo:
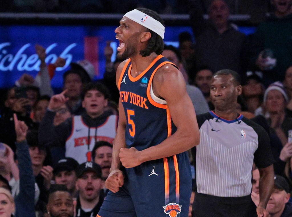
[[[107,110],[109,91],[101,83],[88,83],[82,90],[82,107],[85,112],[74,115],[58,126],[53,126],[55,111],[68,98],[66,90],[53,96],[45,117],[40,123],[40,143],[46,146],[65,146],[65,156],[79,163],[91,161],[91,150],[97,141],[112,143],[116,135],[117,116]]]

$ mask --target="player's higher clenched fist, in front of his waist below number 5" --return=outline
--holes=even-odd
[[[142,162],[140,162],[138,157],[139,151],[134,148],[121,148],[120,149],[120,161],[126,168],[132,168],[134,166],[140,165]]]

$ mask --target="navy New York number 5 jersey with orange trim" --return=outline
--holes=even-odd
[[[134,78],[131,76],[132,64],[129,59],[122,70],[119,91],[128,123],[126,127],[128,148],[135,147],[140,151],[158,145],[177,129],[171,120],[168,105],[159,104],[150,96],[154,74],[165,64],[174,65],[159,55],[146,70]]]

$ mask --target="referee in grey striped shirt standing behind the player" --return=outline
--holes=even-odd
[[[197,115],[201,141],[192,148],[197,192],[192,217],[269,216],[266,211],[274,185],[269,136],[238,114],[239,74],[220,70],[211,80],[214,111]],[[260,203],[251,200],[253,162],[260,171]]]

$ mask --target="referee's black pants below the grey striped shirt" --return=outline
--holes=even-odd
[[[192,217],[256,217],[256,205],[251,195],[244,197],[217,197],[197,193]]]

